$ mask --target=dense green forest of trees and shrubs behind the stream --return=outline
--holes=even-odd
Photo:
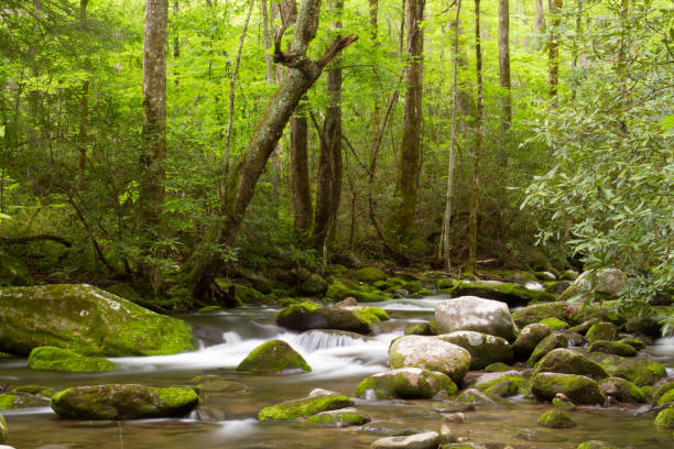
[[[162,3],[165,134],[143,90],[144,45],[157,54],[144,25]],[[278,55],[297,48],[303,17],[292,0],[145,8],[2,2],[6,266],[123,280],[176,308],[205,273],[282,280],[362,261],[618,266],[632,299],[674,285],[670,2],[324,2],[307,55],[358,40],[259,161],[242,211],[250,142],[297,72]]]

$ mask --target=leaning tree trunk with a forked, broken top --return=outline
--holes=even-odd
[[[319,9],[320,0],[303,0],[290,52],[282,53],[278,48],[274,53],[274,62],[289,67],[289,74],[267,105],[244,154],[232,169],[229,178],[230,188],[227,189],[228,196],[221,199],[222,220],[209,231],[187,266],[189,270],[187,281],[194,286],[196,300],[210,302],[214,297],[219,299],[222,296],[215,285],[215,277],[222,261],[214,248],[233,245],[256,184],[264,172],[267,161],[281,139],[293,111],[318,79],[323,68],[357,39],[354,35],[338,39],[319,61],[309,59],[306,50],[318,29]]]

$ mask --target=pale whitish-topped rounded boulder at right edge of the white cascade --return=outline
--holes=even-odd
[[[393,370],[413,366],[439,371],[459,382],[470,366],[470,353],[435,337],[404,336],[389,348],[389,365]]]

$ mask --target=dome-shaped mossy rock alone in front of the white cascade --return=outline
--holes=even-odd
[[[237,371],[309,372],[312,368],[306,363],[306,360],[285,341],[270,340],[253,349],[246,359],[239,363]]]

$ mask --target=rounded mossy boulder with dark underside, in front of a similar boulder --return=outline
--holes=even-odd
[[[557,393],[577,404],[604,404],[606,396],[597,382],[577,374],[540,373],[531,381],[531,392],[539,399],[552,401]]]

